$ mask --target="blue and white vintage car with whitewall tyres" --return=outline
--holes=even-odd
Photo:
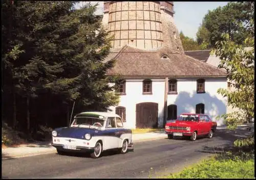
[[[133,146],[132,130],[123,127],[120,116],[105,112],[83,112],[74,117],[70,127],[52,131],[52,146],[61,154],[65,151],[90,152],[99,158],[108,149],[127,152]]]

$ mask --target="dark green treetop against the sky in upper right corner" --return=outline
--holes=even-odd
[[[208,44],[208,48],[215,47],[221,34],[228,33],[232,41],[248,46],[244,40],[254,36],[254,32],[248,31],[251,23],[254,29],[254,2],[230,2],[208,11],[198,30],[197,41],[200,45]]]

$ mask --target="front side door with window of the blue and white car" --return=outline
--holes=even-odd
[[[116,121],[115,121],[115,117],[109,117],[106,120],[106,127],[105,127],[105,132],[104,132],[104,144],[103,146],[105,146],[106,149],[112,149],[112,148],[116,148],[117,144],[118,144],[118,137],[116,135]],[[104,149],[105,149],[104,148]]]

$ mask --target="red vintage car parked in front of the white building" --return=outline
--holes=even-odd
[[[206,114],[183,113],[174,122],[165,124],[165,132],[168,139],[172,139],[174,136],[187,136],[195,141],[197,136],[201,135],[211,138],[216,127],[217,123],[211,121]]]

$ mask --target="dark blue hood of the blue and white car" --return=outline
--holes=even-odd
[[[55,131],[58,133],[57,137],[81,139],[87,133],[90,133],[93,136],[97,130],[86,127],[60,127],[56,128]]]

